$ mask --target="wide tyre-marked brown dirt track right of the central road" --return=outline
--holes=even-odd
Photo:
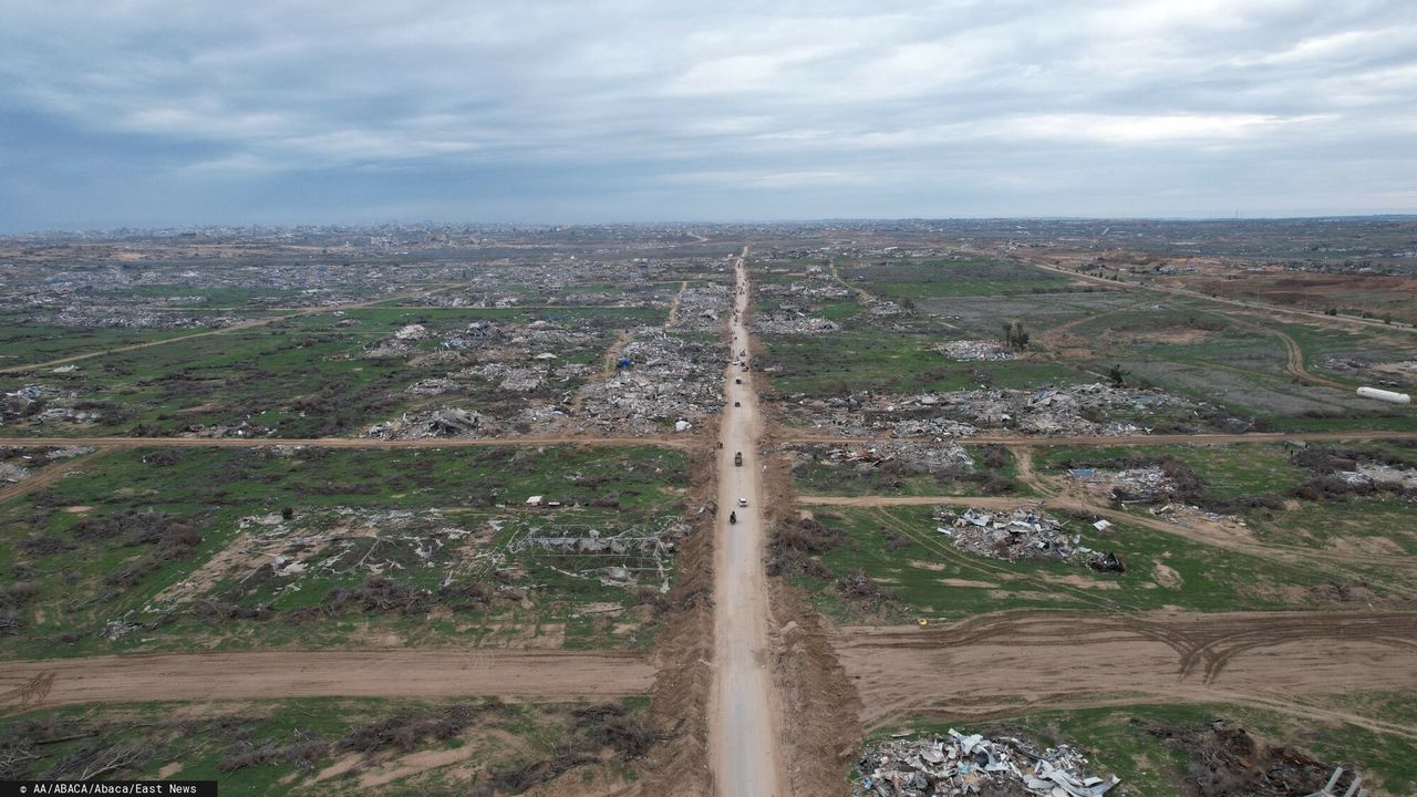
[[[867,726],[915,712],[954,719],[1219,702],[1417,739],[1417,726],[1322,701],[1417,688],[1411,613],[990,614],[924,628],[846,627],[833,647]]]

